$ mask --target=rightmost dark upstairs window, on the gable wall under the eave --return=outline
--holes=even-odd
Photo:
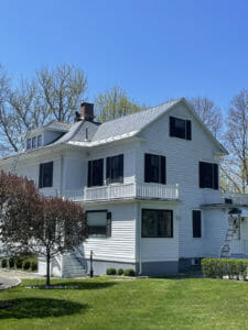
[[[218,165],[213,163],[200,162],[200,188],[218,189]]]

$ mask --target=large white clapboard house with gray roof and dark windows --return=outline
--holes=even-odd
[[[87,211],[88,239],[54,258],[54,275],[88,273],[90,251],[95,274],[163,275],[204,256],[248,255],[248,197],[219,190],[226,154],[185,99],[103,124],[83,103],[75,123],[33,130],[15,169]],[[14,160],[1,158],[0,169]]]

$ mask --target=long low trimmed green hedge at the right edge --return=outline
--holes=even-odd
[[[248,261],[233,258],[207,257],[202,260],[202,271],[205,277],[223,277],[224,275],[242,275],[248,267]]]

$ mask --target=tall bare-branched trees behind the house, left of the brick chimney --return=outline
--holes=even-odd
[[[42,68],[34,78],[21,79],[14,89],[0,67],[0,148],[17,152],[28,130],[50,120],[72,121],[86,90],[87,78],[74,66]]]

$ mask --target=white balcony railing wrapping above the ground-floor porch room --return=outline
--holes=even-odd
[[[43,190],[43,189],[42,189]],[[82,190],[56,189],[42,191],[46,196],[61,196],[73,201],[95,202],[126,199],[179,201],[179,185],[127,183],[99,187],[85,187]]]

